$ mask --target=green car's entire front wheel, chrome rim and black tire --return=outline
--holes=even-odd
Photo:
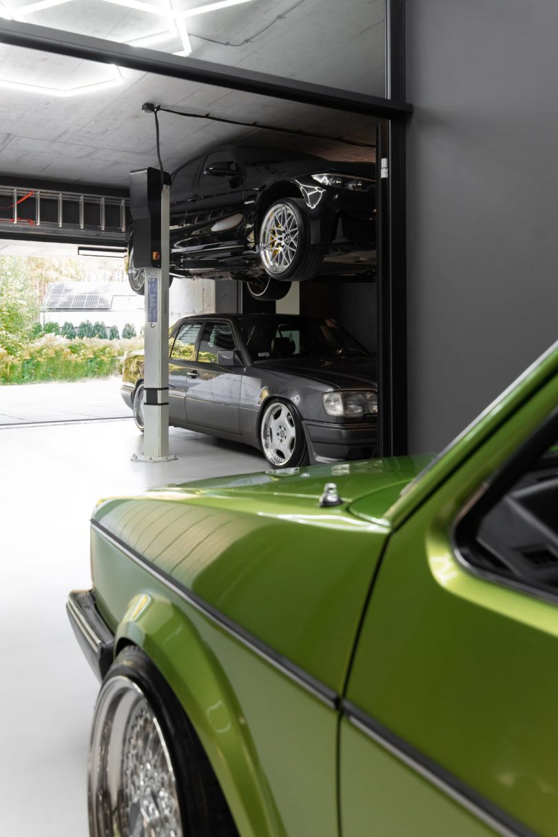
[[[183,837],[238,837],[177,696],[134,645],[120,652],[103,680],[89,765],[91,834],[169,834],[180,824]]]

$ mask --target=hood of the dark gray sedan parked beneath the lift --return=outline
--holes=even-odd
[[[377,363],[373,357],[368,356],[289,357],[258,361],[254,366],[308,377],[339,389],[376,388]]]

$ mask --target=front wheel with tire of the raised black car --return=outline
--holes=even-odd
[[[279,218],[277,223],[283,226],[274,227],[274,218]],[[272,254],[283,253],[285,259],[284,264],[275,267],[271,264],[273,255],[266,255],[273,241],[277,243],[277,251],[272,250]],[[310,244],[310,218],[302,198],[279,198],[270,204],[259,225],[258,244],[262,267],[280,282],[312,279],[324,259],[324,254]]]

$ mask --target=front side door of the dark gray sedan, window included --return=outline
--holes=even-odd
[[[187,424],[239,434],[238,404],[243,367],[219,365],[219,352],[236,350],[233,328],[226,321],[207,321],[197,350],[197,361],[187,372]]]

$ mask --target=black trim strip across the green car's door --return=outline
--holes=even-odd
[[[452,798],[455,802],[474,814],[477,819],[487,824],[496,834],[502,837],[537,837],[535,831],[527,828],[523,823],[506,814],[498,806],[489,802],[482,794],[470,788],[468,784],[461,781],[445,770],[431,758],[412,747],[402,738],[397,736],[390,729],[385,727],[376,718],[372,718],[363,712],[358,706],[350,701],[342,701],[341,712],[346,716],[347,721],[353,727],[363,732],[366,736],[376,742],[400,762],[407,765],[415,773],[418,773],[427,782]]]

